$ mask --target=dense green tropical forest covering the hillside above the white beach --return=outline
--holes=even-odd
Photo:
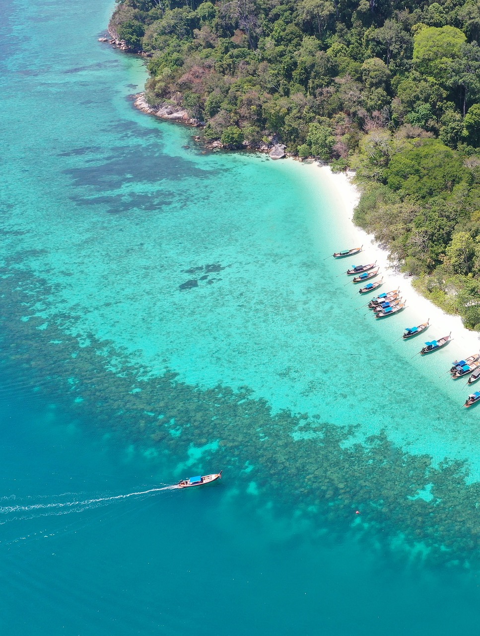
[[[480,330],[480,0],[120,0],[152,106],[355,171],[355,223]]]

